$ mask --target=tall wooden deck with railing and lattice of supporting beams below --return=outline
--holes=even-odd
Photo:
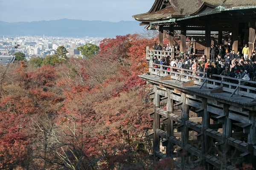
[[[140,77],[154,85],[154,161],[170,157],[180,169],[256,166],[256,82],[218,75],[207,80],[197,76],[205,72],[153,65],[150,60],[150,71]]]

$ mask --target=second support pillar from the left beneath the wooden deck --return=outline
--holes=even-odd
[[[170,119],[171,113],[173,113],[173,99],[171,99],[171,89],[167,88],[167,105],[166,105],[166,113],[168,117],[168,125],[166,128],[166,137],[168,139],[168,143],[166,146],[166,157],[173,157],[173,143],[170,141],[170,136],[173,136],[173,120]]]

